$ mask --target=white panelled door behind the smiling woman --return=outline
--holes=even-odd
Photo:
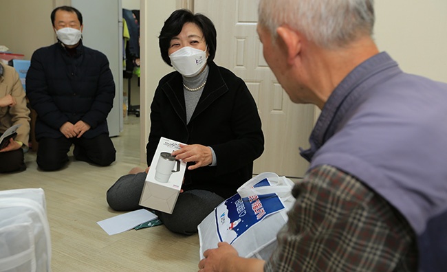
[[[194,12],[208,16],[217,30],[215,63],[243,78],[256,100],[265,136],[263,155],[254,174],[276,172],[303,177],[308,163],[299,155],[307,148],[315,106],[290,102],[262,54],[256,32],[257,0],[195,0]]]

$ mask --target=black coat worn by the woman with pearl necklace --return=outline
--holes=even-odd
[[[217,166],[186,170],[182,188],[208,190],[228,198],[251,179],[253,161],[264,150],[264,137],[257,106],[245,82],[215,63],[208,65],[204,91],[188,124],[182,75],[174,71],[160,80],[151,104],[147,163],[151,165],[160,137],[210,146]]]

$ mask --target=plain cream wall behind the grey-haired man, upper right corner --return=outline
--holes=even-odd
[[[447,82],[446,11],[446,0],[375,0],[375,41],[404,71]]]

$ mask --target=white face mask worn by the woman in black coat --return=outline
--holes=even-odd
[[[169,58],[173,67],[187,78],[197,76],[206,65],[206,51],[188,46],[178,49]]]

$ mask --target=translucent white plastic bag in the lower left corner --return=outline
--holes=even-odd
[[[45,193],[0,191],[0,271],[51,271]]]

